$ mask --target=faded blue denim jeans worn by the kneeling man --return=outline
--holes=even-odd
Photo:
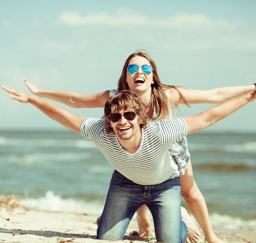
[[[184,243],[188,228],[181,219],[180,200],[180,177],[157,185],[139,185],[114,171],[97,239],[123,239],[134,213],[146,204],[153,216],[157,242]]]

